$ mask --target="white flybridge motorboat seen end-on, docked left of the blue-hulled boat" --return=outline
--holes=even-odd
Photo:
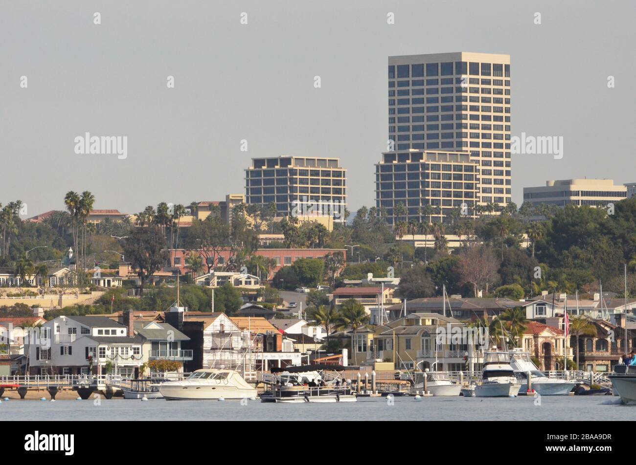
[[[481,384],[475,386],[476,397],[510,397],[519,393],[521,383],[510,366],[508,352],[488,352],[484,356]]]

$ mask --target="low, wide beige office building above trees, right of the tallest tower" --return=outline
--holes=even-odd
[[[533,205],[607,206],[627,198],[627,187],[611,179],[563,179],[541,187],[523,187],[523,201]]]

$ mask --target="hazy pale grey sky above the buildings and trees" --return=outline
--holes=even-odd
[[[0,202],[21,199],[32,216],[64,208],[69,190],[125,213],[219,200],[244,192],[252,157],[286,154],[340,157],[354,212],[373,205],[386,150],[387,57],[449,51],[511,55],[513,136],[564,138],[562,159],[513,155],[513,201],[546,179],[636,181],[635,11],[580,0],[3,1]],[[86,131],[127,136],[127,158],[75,154]]]

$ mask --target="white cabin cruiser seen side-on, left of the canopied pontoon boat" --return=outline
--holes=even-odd
[[[256,398],[256,389],[233,370],[204,368],[183,381],[164,382],[159,392],[167,400],[218,400]]]

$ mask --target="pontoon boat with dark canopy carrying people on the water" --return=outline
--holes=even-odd
[[[356,394],[340,376],[331,375],[343,367],[333,365],[304,365],[298,367],[273,368],[272,374],[263,377],[269,388],[261,394],[261,402],[355,402]],[[327,375],[325,370],[329,370]]]

